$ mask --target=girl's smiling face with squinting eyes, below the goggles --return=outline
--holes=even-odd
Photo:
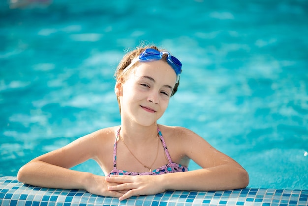
[[[121,118],[150,126],[163,115],[176,83],[176,74],[163,60],[137,63],[125,83],[116,83]]]

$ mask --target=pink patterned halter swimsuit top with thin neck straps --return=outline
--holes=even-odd
[[[164,146],[166,156],[169,160],[169,163],[166,165],[161,166],[160,168],[157,168],[151,172],[129,172],[124,170],[118,170],[117,169],[117,140],[119,138],[120,134],[120,128],[117,131],[117,137],[115,140],[114,148],[113,148],[113,170],[109,173],[110,175],[159,175],[159,174],[167,174],[167,173],[174,173],[174,172],[185,172],[188,171],[188,168],[186,166],[180,165],[178,163],[172,162],[170,154],[168,152],[166,143],[164,141],[164,138],[162,137],[161,131],[159,128],[157,128],[159,138],[162,142],[162,145]]]

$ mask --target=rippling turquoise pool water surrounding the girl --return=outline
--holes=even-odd
[[[307,2],[176,2],[1,1],[0,176],[120,124],[113,72],[126,48],[147,40],[183,63],[161,124],[234,158],[249,187],[308,189]],[[102,174],[93,161],[74,169]]]

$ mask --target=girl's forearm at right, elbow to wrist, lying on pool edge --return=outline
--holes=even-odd
[[[245,188],[249,183],[243,168],[220,165],[212,168],[161,175],[166,190],[229,190]]]

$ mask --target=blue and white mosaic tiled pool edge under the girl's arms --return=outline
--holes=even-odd
[[[307,206],[308,190],[245,188],[227,191],[167,191],[157,195],[117,198],[84,190],[24,185],[16,177],[0,177],[1,206]]]

